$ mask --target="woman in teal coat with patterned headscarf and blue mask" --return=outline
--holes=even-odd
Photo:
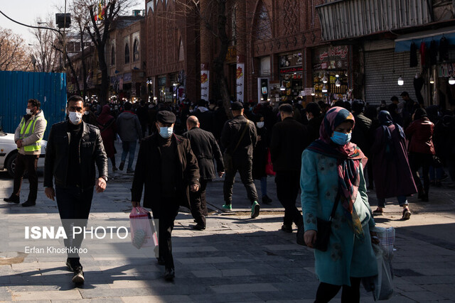
[[[316,275],[321,281],[316,302],[330,301],[341,287],[341,302],[360,302],[361,278],[378,275],[371,246],[378,238],[371,238],[375,221],[363,177],[367,159],[350,143],[354,124],[349,111],[333,107],[321,123],[319,140],[302,153],[301,206],[307,246],[313,247],[316,241],[316,217],[328,221],[339,197],[328,249],[314,250]]]

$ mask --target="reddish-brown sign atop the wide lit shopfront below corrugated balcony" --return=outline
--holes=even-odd
[[[348,45],[318,48],[313,55],[314,70],[346,70],[348,68]]]

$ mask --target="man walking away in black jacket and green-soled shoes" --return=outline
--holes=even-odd
[[[237,170],[242,183],[247,189],[248,199],[251,201],[251,217],[259,216],[257,191],[252,178],[253,148],[257,143],[255,123],[243,116],[243,106],[239,101],[231,105],[233,119],[226,121],[221,132],[221,145],[224,150],[225,182],[223,193],[225,204],[223,209],[232,210],[232,187]]]

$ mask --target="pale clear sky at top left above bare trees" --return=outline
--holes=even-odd
[[[67,0],[67,8],[70,1]],[[145,9],[145,0],[137,0],[136,2],[139,5],[132,9]],[[44,20],[49,15],[53,16],[55,22],[55,13],[63,13],[63,6],[65,6],[65,0],[0,0],[0,11],[10,18],[28,25],[33,25],[38,17]],[[9,21],[1,14],[0,27],[10,28],[14,33],[21,35],[27,43],[36,43],[33,34],[30,32],[31,28]]]

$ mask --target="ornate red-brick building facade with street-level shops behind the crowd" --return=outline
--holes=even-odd
[[[346,94],[348,88],[353,89],[350,74],[352,48],[342,45],[332,49],[328,43],[321,42],[315,6],[322,2],[227,2],[225,16],[230,46],[224,70],[232,99],[279,101],[295,99],[305,91],[310,98],[309,88],[314,88],[315,76],[319,81],[327,74],[335,91],[334,75],[341,72],[342,93]],[[220,45],[213,34],[217,28],[217,8],[210,3],[202,0],[194,10],[182,1],[146,1],[146,76],[153,82],[153,94],[157,99],[173,101],[174,94],[175,99],[183,94],[191,100],[219,98],[217,84],[213,81],[213,60]],[[206,23],[213,30],[206,27]],[[321,67],[321,62],[314,60],[320,53],[335,55],[323,57]],[[341,59],[340,54],[343,60],[337,62]],[[327,58],[335,60],[335,65],[326,62]],[[316,74],[315,66],[319,68]],[[332,77],[327,72],[331,67],[334,70]],[[317,85],[316,96],[311,99],[326,99],[327,94],[322,94],[322,88]],[[337,87],[337,91],[341,92],[341,89]]]

